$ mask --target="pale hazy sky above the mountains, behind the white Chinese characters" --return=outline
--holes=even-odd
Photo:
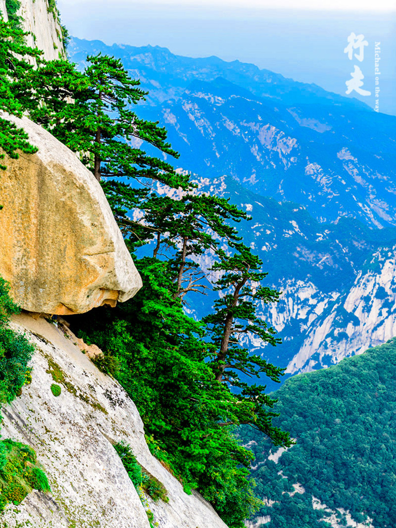
[[[290,0],[200,0],[199,4],[58,0],[63,23],[82,39],[159,45],[192,57],[239,59],[344,95],[353,71],[353,62],[344,54],[347,37],[351,32],[364,34],[368,45],[359,66],[363,88],[372,96],[360,98],[374,106],[374,43],[380,42],[380,111],[396,114],[396,0],[299,0],[298,8],[296,4]],[[370,12],[373,5],[375,11]]]

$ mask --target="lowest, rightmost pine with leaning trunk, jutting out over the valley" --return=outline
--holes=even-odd
[[[275,337],[275,329],[268,327],[257,315],[260,304],[274,303],[280,294],[262,286],[268,274],[261,270],[262,262],[250,248],[241,242],[231,242],[229,246],[232,254],[220,250],[220,261],[211,268],[220,274],[214,289],[223,295],[214,301],[214,313],[203,318],[210,327],[214,345],[210,365],[216,380],[229,386],[240,402],[235,408],[234,423],[250,423],[265,432],[275,445],[290,446],[288,433],[272,426],[272,418],[277,414],[268,409],[274,406],[276,400],[265,393],[266,386],[243,381],[265,374],[279,382],[279,376],[284,372],[284,369],[268,363],[257,354],[251,354],[246,346],[241,345],[241,337],[248,338],[249,335],[257,336],[263,344],[272,346],[281,342]],[[225,421],[224,426],[232,423],[232,420]]]

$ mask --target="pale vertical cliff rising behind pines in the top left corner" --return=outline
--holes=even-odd
[[[0,11],[8,20],[5,0],[0,0]],[[44,59],[51,61],[65,57],[62,41],[62,28],[56,8],[51,11],[47,0],[21,0],[17,13],[22,16],[22,27],[26,44],[44,52]]]

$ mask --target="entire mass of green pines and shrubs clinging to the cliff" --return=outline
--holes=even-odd
[[[135,401],[152,452],[187,492],[198,489],[226,523],[242,528],[260,501],[247,478],[251,452],[238,444],[234,428],[250,424],[276,445],[291,444],[272,426],[275,400],[265,386],[248,382],[261,374],[279,380],[282,371],[240,342],[254,334],[263,346],[279,343],[256,313],[258,303],[275,302],[279,294],[262,284],[262,263],[235,227],[249,217],[229,200],[199,192],[188,173],[166,161],[178,155],[166,130],[134,111],[146,92],[121,61],[89,56],[79,72],[68,61],[40,59],[18,43],[23,34],[0,27],[8,32],[0,39],[5,109],[28,111],[101,181],[143,278],[130,301],[70,322],[87,343],[102,348],[97,365]],[[11,52],[7,39],[15,46]],[[15,141],[7,152],[17,155],[18,148],[33,152]],[[158,156],[146,152],[153,149]],[[219,298],[205,317],[187,315],[187,299],[209,291]]]

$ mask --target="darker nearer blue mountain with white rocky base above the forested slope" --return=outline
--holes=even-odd
[[[260,254],[271,285],[282,292],[279,303],[259,309],[283,341],[264,349],[266,359],[287,367],[289,375],[306,372],[393,335],[396,229],[373,230],[347,217],[320,223],[304,206],[225,181],[224,176],[209,184],[197,180],[201,190],[231,197],[252,216],[239,231]],[[194,301],[198,313],[199,302]],[[260,349],[254,340],[247,344],[256,353]],[[268,386],[276,388],[271,382]]]

